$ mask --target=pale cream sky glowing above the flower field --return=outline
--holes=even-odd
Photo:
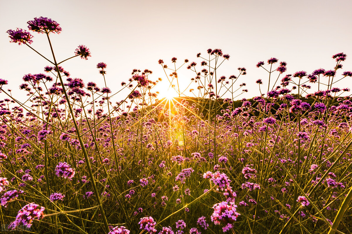
[[[26,45],[10,43],[6,31],[27,29],[26,22],[40,16],[51,18],[62,27],[60,34],[50,34],[57,60],[73,56],[78,45],[90,49],[92,57],[88,60],[77,57],[62,64],[71,77],[103,87],[96,64],[104,62],[107,86],[113,92],[120,89],[121,82],[131,78],[133,69],[149,69],[153,71],[151,80],[163,79],[154,90],[160,91],[162,98],[170,91],[158,60],[163,59],[169,66],[172,57],[178,58],[179,65],[184,59],[200,64],[202,59],[196,58],[196,54],[205,55],[208,48],[220,48],[230,55],[218,70],[220,76],[237,76],[238,67],[247,69],[237,85],[246,83],[249,92],[238,99],[259,95],[255,81],[262,79],[265,87],[268,73],[256,64],[271,57],[287,62],[286,73],[302,70],[311,73],[318,68],[334,69],[336,63],[331,57],[344,52],[347,59],[337,77],[352,70],[352,14],[347,13],[347,9],[352,9],[350,0],[0,0],[0,3],[0,78],[9,81],[6,88],[12,89],[12,95],[20,100],[26,98],[26,92],[18,89],[24,83],[22,77],[44,73],[44,67],[50,64]],[[34,36],[31,46],[51,59],[45,35],[31,33]],[[179,70],[181,90],[192,77],[195,74],[186,66]],[[334,86],[352,89],[351,79],[347,77]],[[115,101],[126,95],[127,91],[119,94]],[[3,94],[0,98],[4,98]]]

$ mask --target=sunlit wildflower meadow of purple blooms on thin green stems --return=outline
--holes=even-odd
[[[208,49],[155,61],[163,78],[134,69],[114,88],[99,62],[98,87],[64,69],[92,59],[87,46],[59,61],[50,35],[60,25],[27,24],[7,31],[10,42],[46,64],[18,84],[25,102],[0,79],[2,232],[351,233],[352,98],[335,86],[352,77],[346,54],[293,74],[269,58],[256,65],[267,78],[248,80],[245,67],[222,76],[230,55]],[[32,34],[48,39],[50,57]],[[189,87],[158,97],[162,80]],[[244,80],[257,97],[241,99]]]

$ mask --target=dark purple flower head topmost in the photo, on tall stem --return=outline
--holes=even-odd
[[[28,21],[27,24],[29,30],[38,33],[53,32],[59,34],[62,31],[60,25],[56,21],[46,17],[34,18],[34,20]]]

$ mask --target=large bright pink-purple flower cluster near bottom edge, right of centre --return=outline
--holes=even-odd
[[[233,228],[233,223],[236,221],[237,217],[240,215],[236,212],[237,206],[233,202],[220,202],[214,204],[214,212],[211,216],[211,220],[215,225],[223,224],[223,232],[227,232]]]

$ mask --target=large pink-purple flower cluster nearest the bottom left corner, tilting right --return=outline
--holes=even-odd
[[[34,219],[39,220],[43,218],[44,210],[44,207],[35,203],[26,204],[24,207],[22,207],[22,209],[19,210],[15,221],[13,221],[11,225],[12,229],[15,229],[17,226],[21,225],[30,228]]]

